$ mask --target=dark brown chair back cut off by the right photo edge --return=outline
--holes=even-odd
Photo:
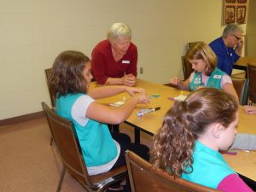
[[[247,64],[247,76],[249,79],[248,98],[250,102],[256,103],[256,66]]]

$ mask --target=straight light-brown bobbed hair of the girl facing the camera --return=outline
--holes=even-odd
[[[187,61],[200,59],[205,61],[207,64],[205,70],[207,76],[211,76],[212,72],[214,71],[217,65],[217,56],[212,51],[211,47],[202,41],[192,44],[185,58]]]

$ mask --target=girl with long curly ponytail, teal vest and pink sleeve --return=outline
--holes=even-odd
[[[226,192],[253,192],[226,163],[236,136],[238,103],[215,88],[193,91],[175,102],[154,136],[151,161],[176,177]]]

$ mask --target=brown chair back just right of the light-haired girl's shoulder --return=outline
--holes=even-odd
[[[237,96],[239,98],[239,104],[246,105],[249,80],[233,77],[231,79],[236,90]]]

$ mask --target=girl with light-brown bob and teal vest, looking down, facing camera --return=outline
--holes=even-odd
[[[197,42],[191,46],[185,56],[186,61],[192,65],[195,71],[190,74],[189,79],[184,81],[177,77],[170,80],[171,84],[176,84],[181,90],[196,90],[201,87],[214,87],[224,90],[235,96],[238,100],[236,90],[232,84],[230,76],[222,72],[217,65],[217,56],[208,44]]]

